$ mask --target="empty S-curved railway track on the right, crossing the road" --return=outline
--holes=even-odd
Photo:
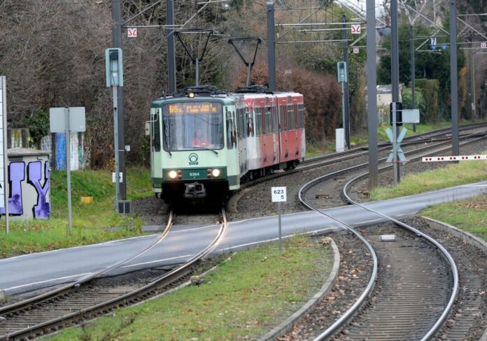
[[[372,232],[372,228],[367,230],[365,238],[348,224],[318,210],[306,202],[305,194],[323,178],[304,184],[299,200],[362,240],[374,265],[360,297],[315,340],[327,340],[333,335],[345,340],[404,340],[406,335],[415,340],[428,340],[444,323],[458,292],[458,270],[453,257],[439,242],[413,226],[353,202],[346,195],[350,182],[344,187],[347,200],[398,226],[388,231],[396,235],[397,241],[381,242],[381,233]],[[435,277],[432,275],[435,273],[440,275]]]

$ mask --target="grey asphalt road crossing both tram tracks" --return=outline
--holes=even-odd
[[[384,215],[402,219],[416,214],[428,205],[456,201],[487,193],[487,182],[478,182],[449,189],[431,191],[414,196],[375,201],[365,204]],[[351,226],[366,226],[384,219],[356,206],[342,206],[323,210],[327,215]],[[317,233],[339,230],[342,226],[316,212],[299,212],[282,216],[284,237],[295,233]],[[132,259],[115,275],[143,268],[171,266],[183,263],[204,249],[216,237],[218,225],[173,226],[171,231],[153,249]],[[6,295],[25,293],[66,282],[73,282],[113,263],[129,258],[157,239],[157,234],[115,240],[96,245],[59,249],[0,260],[0,291]],[[262,217],[231,222],[222,242],[213,252],[225,253],[253,247],[276,240],[278,217]]]

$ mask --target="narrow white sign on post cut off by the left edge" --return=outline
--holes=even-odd
[[[7,80],[0,76],[0,208],[5,208],[5,232],[8,234],[8,157],[7,157]]]

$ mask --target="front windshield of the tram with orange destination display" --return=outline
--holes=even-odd
[[[223,149],[223,110],[216,102],[182,102],[162,107],[164,150]]]

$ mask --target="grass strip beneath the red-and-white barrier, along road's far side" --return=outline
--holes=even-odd
[[[486,161],[460,161],[444,168],[405,175],[396,187],[372,189],[370,198],[374,201],[397,198],[483,180],[487,180]]]

